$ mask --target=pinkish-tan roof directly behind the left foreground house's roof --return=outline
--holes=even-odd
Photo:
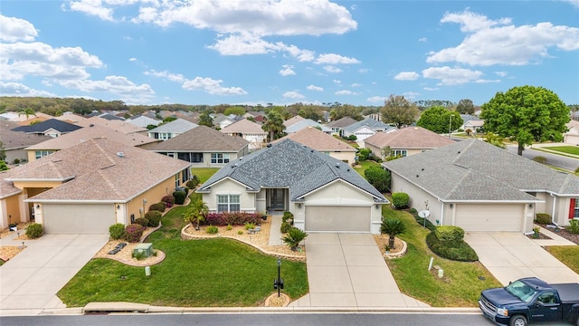
[[[160,141],[159,139],[152,139],[141,134],[126,134],[116,129],[94,125],[92,127],[85,127],[72,131],[68,134],[62,135],[61,137],[43,141],[42,143],[27,148],[27,150],[68,149],[89,139],[112,139],[128,146],[143,146]]]

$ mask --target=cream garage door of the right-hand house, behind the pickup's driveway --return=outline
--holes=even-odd
[[[455,225],[465,231],[522,232],[523,205],[457,204]]]

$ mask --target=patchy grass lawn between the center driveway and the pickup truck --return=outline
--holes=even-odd
[[[429,230],[418,225],[410,213],[384,206],[383,215],[400,218],[406,225],[400,238],[408,245],[407,253],[386,261],[403,293],[434,307],[476,307],[482,290],[501,286],[479,262],[455,262],[432,254],[425,242]],[[431,257],[444,271],[442,279],[434,269],[428,272]]]

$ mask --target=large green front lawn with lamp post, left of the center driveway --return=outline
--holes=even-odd
[[[259,306],[273,290],[277,258],[225,238],[181,240],[185,206],[163,216],[163,227],[147,242],[166,259],[151,266],[133,267],[109,259],[93,259],[58,293],[69,307],[88,302],[138,302],[180,307]],[[283,261],[283,292],[292,299],[308,293],[303,262]]]

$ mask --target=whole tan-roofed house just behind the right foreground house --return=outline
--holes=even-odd
[[[376,132],[364,139],[365,149],[378,158],[407,157],[429,149],[438,149],[454,141],[422,127],[406,127],[391,132]]]

